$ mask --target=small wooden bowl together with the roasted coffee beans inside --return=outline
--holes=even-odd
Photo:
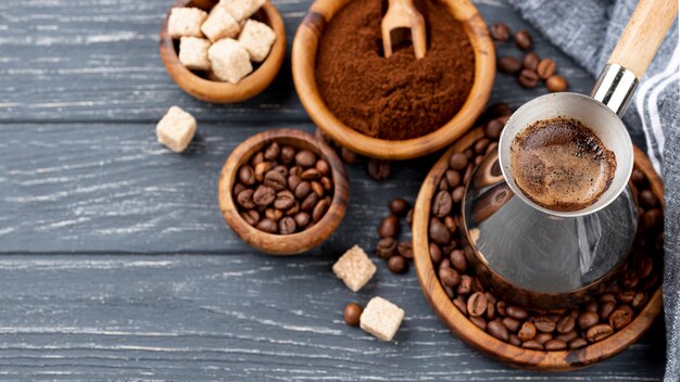
[[[295,129],[273,129],[239,144],[219,176],[219,209],[251,246],[294,255],[325,241],[348,206],[344,166],[335,151]]]

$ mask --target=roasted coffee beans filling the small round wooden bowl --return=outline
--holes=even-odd
[[[250,226],[291,234],[318,222],[332,201],[329,164],[310,150],[272,142],[238,170],[232,193]]]

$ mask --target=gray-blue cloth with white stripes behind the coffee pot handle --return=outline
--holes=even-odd
[[[594,76],[606,64],[637,4],[633,0],[508,1],[552,43]],[[680,381],[679,72],[676,20],[624,117],[631,135],[644,136],[647,155],[665,182],[666,381]]]

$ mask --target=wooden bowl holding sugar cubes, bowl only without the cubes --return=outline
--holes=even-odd
[[[210,11],[216,3],[217,1],[213,0],[184,0],[176,1],[172,8],[196,7]],[[265,61],[237,85],[210,80],[186,68],[179,62],[175,42],[167,33],[168,18],[169,11],[165,15],[163,26],[161,27],[161,60],[163,60],[165,69],[167,69],[167,74],[169,74],[175,84],[199,100],[214,103],[234,103],[252,98],[272,84],[286,58],[284,21],[276,8],[268,1],[253,15],[253,18],[270,26],[276,34],[276,41],[274,41],[272,51]]]

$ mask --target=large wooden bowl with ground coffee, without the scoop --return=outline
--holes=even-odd
[[[418,0],[428,51],[382,55],[381,0],[316,0],[295,35],[293,80],[303,106],[348,149],[406,160],[444,148],[482,112],[495,54],[484,21],[467,0]]]

